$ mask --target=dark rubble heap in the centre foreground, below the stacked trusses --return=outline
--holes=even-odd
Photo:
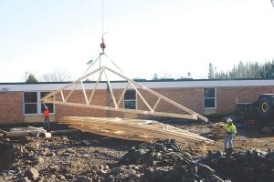
[[[139,165],[141,181],[224,181],[216,176],[216,170],[196,162],[170,139],[132,147],[120,164],[135,168]]]

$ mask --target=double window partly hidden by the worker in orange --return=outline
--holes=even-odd
[[[41,115],[44,111],[44,106],[40,102],[43,96],[46,96],[49,92],[25,92],[24,93],[24,115]],[[52,96],[52,99],[54,97]],[[49,112],[54,114],[54,105],[46,104]]]

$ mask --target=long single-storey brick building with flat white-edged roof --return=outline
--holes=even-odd
[[[111,82],[114,95],[121,94],[125,82]],[[258,95],[274,93],[274,80],[149,80],[140,81],[163,96],[183,104],[201,115],[232,114],[235,111],[236,97],[239,102],[253,102]],[[2,83],[0,84],[0,122],[39,122],[42,121],[40,98],[48,92],[58,90],[68,83]],[[85,88],[92,88],[95,83],[85,83]],[[92,101],[94,105],[111,106],[107,83],[101,82]],[[69,92],[69,90],[67,90]],[[88,91],[90,94],[91,91]],[[149,102],[155,98],[143,96]],[[82,91],[76,88],[72,100],[83,100]],[[58,99],[58,97],[54,97]],[[143,109],[145,105],[134,90],[127,90],[121,104],[125,108]],[[132,117],[131,114],[75,106],[47,105],[51,112],[51,121],[58,121],[61,116],[120,116]],[[159,109],[176,112],[172,106],[159,105]],[[133,117],[146,117],[133,115]]]

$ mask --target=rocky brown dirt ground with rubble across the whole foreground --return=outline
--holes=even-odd
[[[178,144],[179,149],[170,143],[153,146],[78,131],[52,138],[2,139],[0,181],[273,181],[273,136],[239,129],[234,154],[227,158],[223,136],[212,135],[212,125],[173,125],[216,144]],[[68,127],[53,126],[59,128]]]

